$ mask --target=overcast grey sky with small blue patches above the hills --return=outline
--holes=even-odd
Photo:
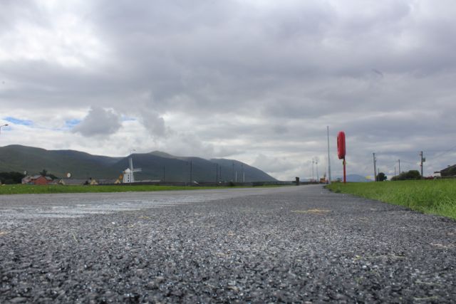
[[[0,2],[0,145],[238,159],[278,179],[456,163],[452,0]],[[316,167],[315,172],[316,175]]]

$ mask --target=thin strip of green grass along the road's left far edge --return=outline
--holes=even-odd
[[[284,187],[281,185],[266,185],[261,187]],[[155,192],[170,190],[201,190],[201,189],[233,189],[247,188],[236,187],[191,187],[191,186],[155,186],[155,185],[132,185],[132,186],[86,186],[86,185],[28,185],[28,184],[2,184],[1,194],[46,194],[46,193],[84,193],[84,192]]]

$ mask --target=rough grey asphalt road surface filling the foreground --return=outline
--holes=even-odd
[[[321,186],[0,196],[0,303],[454,303],[455,239]]]

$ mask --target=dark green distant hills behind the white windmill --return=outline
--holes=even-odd
[[[168,182],[222,181],[245,182],[275,181],[269,174],[248,164],[232,159],[202,159],[177,157],[165,152],[133,154],[133,165],[142,172],[135,173],[136,180],[152,179]],[[74,150],[44,150],[36,147],[10,145],[0,147],[0,172],[38,174],[43,169],[57,177],[71,172],[75,179],[115,179],[128,167],[129,157],[106,157]],[[233,167],[234,164],[234,167]],[[190,172],[190,167],[192,168]]]

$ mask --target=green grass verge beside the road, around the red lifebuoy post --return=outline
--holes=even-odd
[[[333,183],[327,188],[456,219],[456,179]]]

